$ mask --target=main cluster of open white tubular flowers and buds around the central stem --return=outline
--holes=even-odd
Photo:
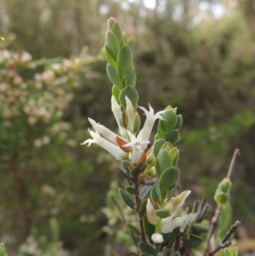
[[[156,119],[162,119],[162,114],[165,111],[159,111],[154,114],[151,106],[149,106],[150,111],[147,111],[144,107],[139,107],[146,114],[146,121],[139,133],[134,134],[132,131],[135,126],[139,125],[136,123],[139,122],[139,118],[137,118],[139,116],[133,110],[133,105],[127,96],[125,99],[127,104],[127,127],[124,127],[122,122],[121,105],[117,104],[113,96],[111,97],[111,110],[116,118],[120,135],[113,133],[110,129],[88,118],[95,131],[88,130],[93,139],[85,140],[82,145],[96,143],[106,151],[109,151],[117,160],[128,159],[134,165],[142,166],[146,160],[146,149],[150,143],[151,130]]]

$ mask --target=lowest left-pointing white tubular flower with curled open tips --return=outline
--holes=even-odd
[[[88,129],[88,131],[93,139],[87,139],[81,145],[88,144],[88,146],[90,146],[91,144],[96,143],[97,145],[104,148],[105,151],[110,152],[111,155],[115,156],[116,159],[118,159],[118,160],[127,158],[127,156],[128,156],[127,153],[122,151],[118,145],[114,145],[107,139],[102,138],[98,132],[94,133],[93,131],[90,131],[89,129]]]

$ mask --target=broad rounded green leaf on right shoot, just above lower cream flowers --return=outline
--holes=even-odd
[[[172,188],[179,179],[179,169],[176,167],[167,168],[162,174],[161,178],[159,179],[160,185],[165,189]]]

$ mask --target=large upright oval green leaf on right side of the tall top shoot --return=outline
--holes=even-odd
[[[116,59],[117,71],[122,77],[127,77],[133,67],[133,54],[131,48],[125,44],[119,50]]]

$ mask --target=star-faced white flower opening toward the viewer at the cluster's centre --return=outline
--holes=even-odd
[[[144,154],[144,150],[147,148],[147,145],[150,143],[150,141],[142,140],[141,133],[138,134],[137,138],[128,130],[127,134],[131,141],[123,145],[123,147],[132,147],[130,159],[133,163],[138,164],[141,160],[142,155]]]

